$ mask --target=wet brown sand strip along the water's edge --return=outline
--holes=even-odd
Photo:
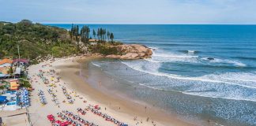
[[[58,69],[59,75],[63,80],[70,83],[68,84],[69,87],[75,89],[83,95],[87,95],[88,98],[91,98],[96,102],[100,102],[100,105],[104,105],[107,109],[111,109],[112,113],[127,116],[130,118],[130,120],[137,117],[138,120],[143,120],[143,123],[149,117],[149,122],[157,122],[156,125],[194,125],[178,119],[175,115],[164,113],[162,109],[149,106],[144,102],[134,101],[129,98],[123,98],[123,96],[112,95],[110,92],[103,92],[95,89],[90,84],[85,82],[84,79],[86,78],[86,75],[81,76],[81,63],[85,63],[86,61],[88,61],[88,59],[78,59],[79,63],[77,62],[70,65],[62,65],[58,66],[57,68],[55,67],[55,69]],[[104,82],[104,80],[100,81]]]

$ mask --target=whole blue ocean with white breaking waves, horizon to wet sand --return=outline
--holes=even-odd
[[[198,124],[256,125],[256,25],[88,26],[153,50],[150,59],[92,61],[91,69],[118,82],[110,89]]]

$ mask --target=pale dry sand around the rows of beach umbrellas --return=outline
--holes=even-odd
[[[47,64],[47,66],[42,68],[42,65],[46,65],[46,64]],[[40,77],[37,76],[40,69],[42,69],[43,72],[47,72],[50,69],[55,69],[55,66],[64,65],[64,64],[65,65],[75,64],[75,61],[73,62],[73,57],[70,57],[67,59],[58,59],[58,60],[54,61],[53,63],[51,63],[50,61],[45,61],[38,65],[32,65],[29,67],[28,76],[32,77],[32,87],[35,88],[35,91],[32,91],[32,106],[29,107],[29,112],[30,112],[30,116],[31,116],[33,125],[36,125],[36,126],[51,125],[50,121],[47,120],[47,115],[53,114],[55,117],[57,117],[56,113],[62,112],[62,110],[68,110],[70,112],[77,114],[77,108],[84,109],[89,104],[99,105],[99,103],[96,102],[96,100],[90,99],[86,95],[86,92],[85,92],[85,94],[78,94],[77,92],[73,91],[73,89],[70,86],[68,86],[68,84],[64,84],[63,80],[60,80],[58,83],[51,81],[52,76],[54,77],[55,81],[57,80],[56,74],[48,75],[45,77],[47,77],[47,79],[50,80],[50,84],[55,83],[55,85],[57,87],[48,87],[48,85],[44,84],[43,81],[40,79]],[[46,73],[44,75],[46,75]],[[71,93],[72,98],[75,99],[75,102],[73,104],[68,104],[68,103],[62,102],[64,99],[66,99],[66,96],[63,95],[63,93],[62,93],[62,88],[61,88],[62,86],[66,87],[67,91],[70,93],[73,91],[73,93]],[[53,89],[53,92],[55,92],[55,95],[57,95],[58,102],[60,102],[59,108],[58,108],[58,106],[55,106],[54,102],[51,101],[52,97],[47,92],[47,89],[49,89],[49,88]],[[37,95],[39,89],[44,92],[45,97],[47,99],[47,105],[45,105],[45,106],[43,106],[40,103],[40,98]],[[58,92],[56,92],[56,91],[58,91]],[[82,99],[74,97],[75,94],[82,97]],[[83,102],[84,100],[86,100],[87,103]],[[116,120],[124,122],[125,124],[136,125],[136,123],[137,123],[137,121],[134,121],[134,117],[131,117],[130,115],[127,115],[126,113],[115,112],[111,109],[105,110],[104,105],[100,105],[100,107],[102,108],[102,109],[100,109],[100,111],[102,113],[107,113],[107,115],[114,117]],[[102,118],[102,117],[96,116],[95,114],[91,113],[90,111],[88,111],[85,115],[81,115],[81,117],[85,120],[88,120],[89,122],[92,122],[92,123],[98,124],[98,125],[115,125],[114,123],[104,120],[104,118]],[[58,118],[58,119],[61,120],[60,118]],[[137,119],[140,119],[140,118],[137,117]],[[142,121],[143,121],[142,124],[141,124],[141,120],[140,120],[140,124],[137,124],[137,125],[145,125],[145,126],[153,125],[152,122],[146,122],[145,120],[142,120]],[[161,124],[157,123],[157,125],[161,125]]]

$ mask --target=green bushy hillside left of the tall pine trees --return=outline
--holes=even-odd
[[[0,58],[18,57],[17,46],[21,57],[30,59],[47,54],[62,57],[77,53],[66,29],[33,24],[30,20],[16,24],[0,21]]]

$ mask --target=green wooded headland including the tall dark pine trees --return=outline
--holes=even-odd
[[[63,28],[33,24],[30,20],[21,20],[16,24],[0,21],[0,58],[17,58],[18,49],[21,57],[28,59],[49,54],[64,57],[88,51],[100,54],[118,53],[113,45],[121,43],[114,41],[112,32],[104,28],[98,28],[97,31],[93,29],[92,35],[94,39],[97,37],[97,40],[90,42],[90,31],[88,26],[80,29],[74,24],[71,30],[67,31]]]

